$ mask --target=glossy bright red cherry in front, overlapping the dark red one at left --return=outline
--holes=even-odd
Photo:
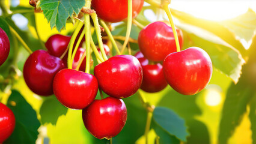
[[[95,99],[98,82],[91,74],[64,69],[53,79],[53,92],[64,106],[70,109],[84,109]]]

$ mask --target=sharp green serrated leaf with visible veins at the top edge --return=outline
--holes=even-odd
[[[42,0],[40,2],[44,17],[50,22],[50,27],[56,26],[58,31],[66,27],[69,17],[73,18],[73,13],[79,13],[85,5],[84,0]]]

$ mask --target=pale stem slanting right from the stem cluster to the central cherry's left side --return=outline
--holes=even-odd
[[[102,35],[101,35],[101,31],[100,31],[100,25],[98,22],[98,17],[96,13],[92,13],[91,14],[91,19],[93,19],[93,23],[94,23],[94,28],[96,31],[96,35],[97,35],[97,39],[99,42],[99,47],[100,47],[100,52],[102,53],[102,57],[104,59],[104,61],[108,60],[108,57],[106,56],[104,47],[103,47],[103,43],[102,43]]]

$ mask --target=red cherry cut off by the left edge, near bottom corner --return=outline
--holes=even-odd
[[[0,103],[0,143],[11,136],[15,128],[15,117],[11,109]]]

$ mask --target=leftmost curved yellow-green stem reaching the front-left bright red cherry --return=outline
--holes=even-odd
[[[69,46],[68,46],[69,47],[69,55],[67,56],[67,67],[70,69],[72,69],[72,63],[73,63],[73,61],[71,61],[73,46],[74,46],[76,37],[78,36],[78,33],[83,25],[84,25],[84,23],[82,23],[80,20],[78,20],[78,26],[76,27],[76,29],[70,39],[70,42],[69,42]]]

